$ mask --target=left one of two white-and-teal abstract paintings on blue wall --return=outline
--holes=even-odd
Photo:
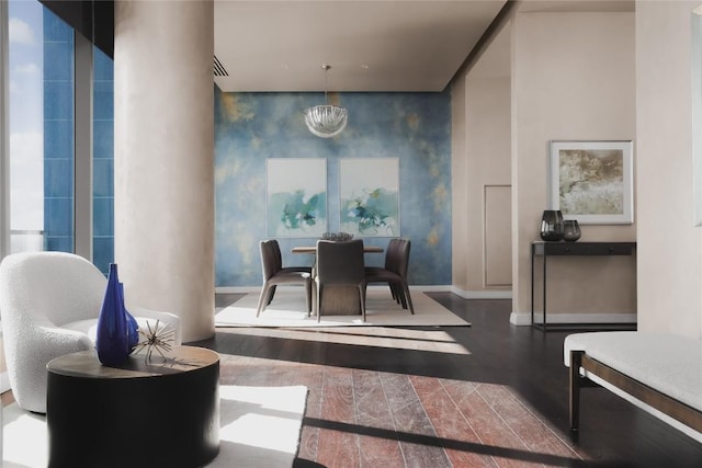
[[[269,158],[265,219],[269,237],[320,237],[327,231],[327,159]]]

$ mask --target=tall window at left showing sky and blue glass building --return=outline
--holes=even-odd
[[[10,244],[0,255],[25,250],[86,254],[77,246],[89,242],[93,263],[106,272],[114,258],[113,61],[97,47],[82,47],[88,39],[41,2],[5,5],[0,5],[7,8],[0,30],[8,31],[1,39],[8,60],[0,70],[9,92],[0,112],[9,124],[0,140],[7,139],[1,158],[9,187],[3,184],[0,198],[9,203],[0,206],[10,210],[0,227],[9,226]],[[87,100],[84,83],[92,90]],[[81,112],[80,102],[92,107]],[[84,164],[92,172],[76,170]],[[89,191],[77,189],[86,186],[84,179],[90,179]]]

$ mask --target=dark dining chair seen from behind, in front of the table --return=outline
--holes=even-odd
[[[327,287],[354,287],[359,292],[358,300],[361,317],[365,321],[365,263],[363,240],[317,241],[317,274],[315,276],[317,321],[321,320],[321,301]]]

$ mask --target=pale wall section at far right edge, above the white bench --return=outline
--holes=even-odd
[[[692,217],[690,25],[699,4],[636,2],[638,328],[697,338],[702,227]]]

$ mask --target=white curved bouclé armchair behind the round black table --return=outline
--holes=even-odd
[[[94,349],[95,327],[107,278],[82,256],[65,252],[23,252],[0,263],[0,317],[10,387],[18,404],[46,412],[46,364],[55,357]],[[128,284],[125,284],[128,298]],[[178,316],[127,304],[139,327],[169,324],[181,344]]]

